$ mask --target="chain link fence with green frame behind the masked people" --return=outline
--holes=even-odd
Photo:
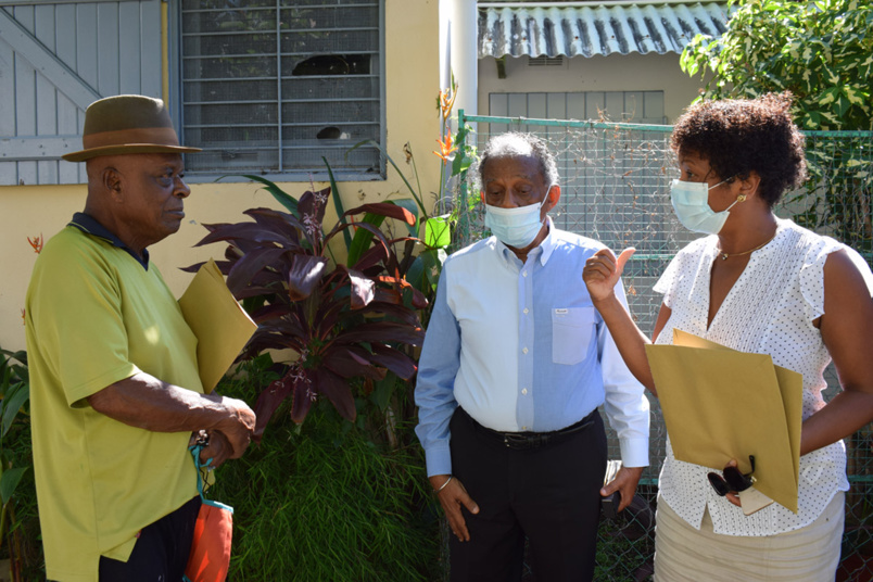
[[[602,241],[615,252],[635,246],[625,267],[624,286],[631,314],[640,328],[651,333],[661,296],[653,286],[674,254],[699,237],[675,219],[669,185],[679,177],[670,150],[671,126],[465,116],[476,123],[477,146],[491,135],[528,131],[545,139],[558,161],[561,200],[552,212],[558,228]],[[810,180],[787,192],[776,214],[873,257],[871,192],[873,192],[873,132],[809,131],[807,159]],[[461,200],[471,187],[461,184]],[[460,207],[463,206],[463,207]],[[481,205],[459,205],[457,248],[481,238]],[[826,397],[838,390],[836,372],[826,374]],[[658,475],[665,455],[666,429],[657,398],[651,402],[650,461],[637,495],[618,518],[604,520],[597,553],[598,581],[650,580],[655,553],[655,504]],[[609,457],[619,458],[615,433],[607,429]],[[838,582],[873,580],[873,426],[846,440],[851,491],[846,497],[846,528]],[[526,572],[531,582],[534,574]]]

